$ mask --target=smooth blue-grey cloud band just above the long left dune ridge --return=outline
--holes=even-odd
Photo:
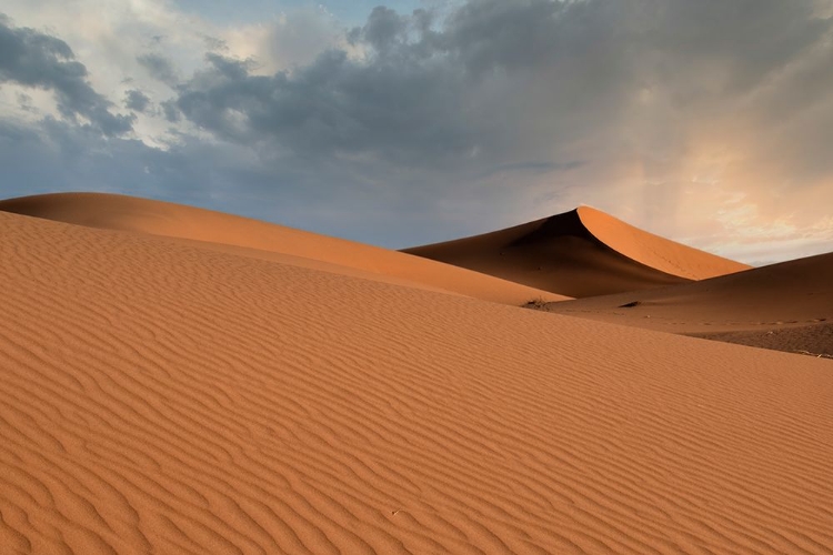
[[[340,190],[318,186],[298,167],[270,164],[249,149],[180,135],[167,150],[138,140],[108,139],[90,129],[47,118],[24,125],[0,118],[3,198],[59,191],[141,195],[247,214],[319,233],[404,244],[434,215],[391,211],[389,193],[368,190],[353,175],[329,173]],[[355,214],[363,213],[358,221]],[[459,225],[445,229],[462,230]],[[379,241],[375,241],[379,242]]]

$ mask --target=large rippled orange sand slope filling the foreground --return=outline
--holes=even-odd
[[[9,553],[830,553],[833,363],[0,212]]]

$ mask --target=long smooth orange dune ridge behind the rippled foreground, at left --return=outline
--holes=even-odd
[[[53,193],[0,201],[0,211],[89,228],[201,241],[218,251],[512,305],[532,299],[566,299],[397,251],[162,201],[119,194]]]

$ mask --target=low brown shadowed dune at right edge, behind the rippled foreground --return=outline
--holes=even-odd
[[[545,310],[780,351],[833,355],[833,253]]]

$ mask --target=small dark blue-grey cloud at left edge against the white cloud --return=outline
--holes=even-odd
[[[83,117],[107,135],[130,131],[132,119],[111,113],[112,103],[87,78],[87,68],[66,42],[0,18],[0,82],[50,90],[64,118]]]

